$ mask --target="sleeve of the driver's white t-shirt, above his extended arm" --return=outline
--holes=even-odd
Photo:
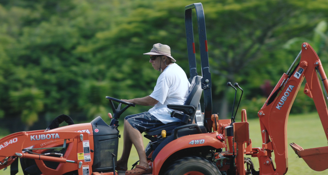
[[[154,91],[149,96],[157,100],[162,105],[164,104],[166,97],[169,93],[169,86],[165,81],[165,78],[157,81]]]

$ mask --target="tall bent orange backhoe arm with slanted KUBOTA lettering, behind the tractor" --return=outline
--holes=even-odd
[[[320,59],[308,43],[303,43],[299,65],[289,75],[284,73],[274,89],[274,91],[277,90],[276,94],[274,92],[271,93],[266,104],[258,111],[263,141],[262,148],[264,152],[275,150],[275,162],[277,166],[274,169],[270,161],[269,163],[261,162],[263,160],[271,160],[268,156],[264,156],[266,158],[263,158],[263,156],[258,157],[260,161],[260,174],[282,175],[287,172],[287,120],[304,77],[307,82],[304,93],[310,98],[313,98],[328,140],[328,110],[316,73],[317,70],[322,76],[324,89],[327,91],[328,80]],[[275,97],[274,95],[277,96]]]

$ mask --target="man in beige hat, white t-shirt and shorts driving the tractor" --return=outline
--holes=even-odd
[[[139,165],[126,174],[148,174],[152,173],[149,167],[141,133],[154,127],[165,125],[171,122],[178,122],[180,119],[172,118],[169,114],[172,110],[167,108],[168,104],[183,105],[189,94],[190,83],[186,73],[175,62],[171,56],[171,49],[167,45],[154,44],[150,52],[149,62],[155,70],[161,71],[154,91],[149,96],[124,100],[142,106],[154,106],[147,112],[134,114],[124,119],[124,144],[123,153],[117,161],[116,170],[127,170],[128,159],[132,144],[139,155]]]

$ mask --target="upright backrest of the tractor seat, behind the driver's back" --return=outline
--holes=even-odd
[[[203,92],[200,81],[201,79],[202,77],[199,75],[194,76],[193,80],[191,81],[191,86],[189,87],[189,95],[185,105],[198,107],[199,100]]]

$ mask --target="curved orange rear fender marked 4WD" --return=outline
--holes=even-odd
[[[217,135],[217,132],[194,134],[180,137],[168,143],[159,151],[153,161],[153,174],[158,175],[166,159],[179,150],[199,146],[212,146],[216,149],[226,147],[223,142],[216,138]]]

